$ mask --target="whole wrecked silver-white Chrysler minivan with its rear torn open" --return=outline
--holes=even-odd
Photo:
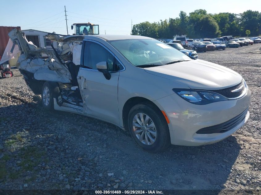
[[[158,40],[47,35],[60,43],[54,49],[37,48],[16,29],[9,36],[21,51],[17,67],[45,109],[129,129],[146,151],[216,143],[249,118],[251,92],[241,75]]]

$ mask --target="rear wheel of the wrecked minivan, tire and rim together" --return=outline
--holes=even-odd
[[[53,98],[57,98],[60,93],[57,83],[46,81],[42,87],[42,104],[45,110],[53,110]]]

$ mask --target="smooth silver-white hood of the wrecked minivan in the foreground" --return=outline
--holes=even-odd
[[[242,81],[242,76],[237,72],[200,59],[144,69],[150,74],[182,83],[192,89],[217,90],[232,87]]]

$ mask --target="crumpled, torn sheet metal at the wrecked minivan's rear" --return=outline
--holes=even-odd
[[[8,35],[11,41],[16,43],[21,50],[17,64],[19,69],[34,73],[36,80],[71,82],[71,74],[64,61],[65,58],[62,58],[59,54],[57,55],[58,52],[54,51],[53,48],[37,48],[28,43],[23,32],[16,29],[12,30]],[[67,43],[64,44],[68,45]],[[68,45],[66,48],[66,51],[63,53],[63,50],[61,50],[60,54],[65,55],[67,60],[72,61],[72,54],[68,55],[71,47]],[[41,54],[46,54],[48,59],[42,58]]]

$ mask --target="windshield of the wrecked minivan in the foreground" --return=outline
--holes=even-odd
[[[192,60],[173,47],[155,39],[123,39],[108,41],[134,66],[164,65],[178,60]]]

